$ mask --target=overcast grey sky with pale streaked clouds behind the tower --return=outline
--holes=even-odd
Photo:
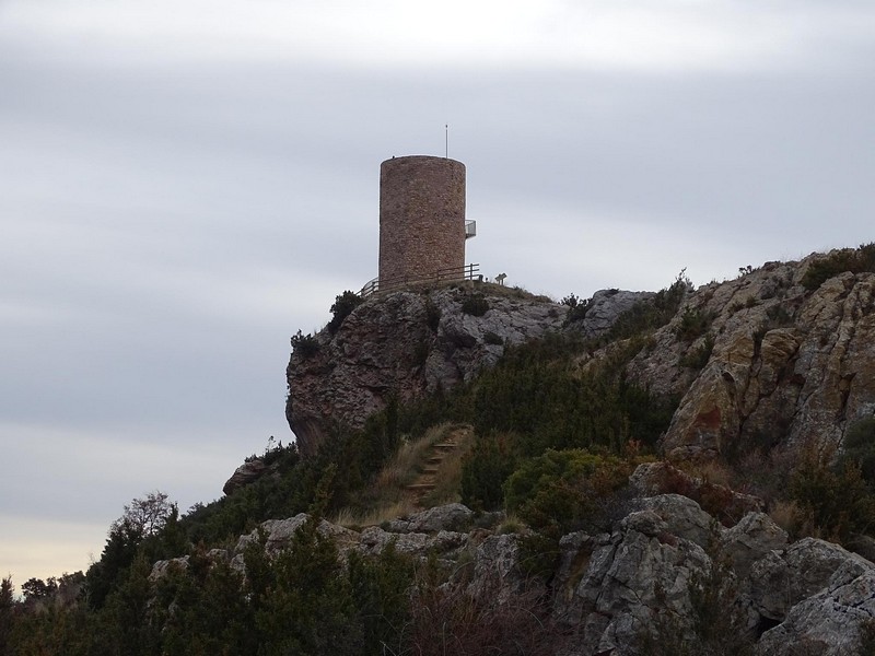
[[[875,239],[873,101],[868,1],[0,0],[0,575],[293,438],[289,337],[445,125],[467,261],[590,296]]]

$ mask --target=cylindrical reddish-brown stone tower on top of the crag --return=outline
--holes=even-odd
[[[380,285],[463,278],[465,165],[446,157],[393,157],[380,166]],[[447,274],[457,270],[457,274]]]

